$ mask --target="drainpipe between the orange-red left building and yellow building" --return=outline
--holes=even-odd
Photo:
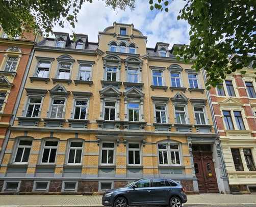
[[[15,117],[16,117],[16,114],[17,114],[17,111],[18,111],[18,107],[19,107],[19,104],[20,104],[20,99],[21,99],[21,96],[22,96],[22,93],[23,93],[23,90],[24,90],[25,82],[28,78],[29,69],[30,69],[30,66],[31,66],[31,62],[32,62],[32,58],[34,56],[34,53],[35,53],[35,49],[33,48],[32,52],[30,53],[29,62],[28,62],[28,65],[25,69],[25,73],[23,75],[22,82],[20,84],[20,90],[18,92],[17,100],[16,100],[16,103],[14,105],[14,109],[13,109],[13,113],[12,113],[13,116],[11,117],[11,120],[10,120],[10,127],[13,126],[13,123],[14,123],[14,120],[15,120]],[[3,162],[3,158],[4,158],[4,154],[5,154],[5,150],[6,150],[6,146],[7,146],[10,134],[11,134],[11,130],[10,130],[10,128],[8,128],[8,130],[6,132],[6,135],[5,135],[5,140],[4,140],[4,143],[3,143],[3,146],[2,146],[2,151],[0,153],[0,166],[2,165],[2,162]]]

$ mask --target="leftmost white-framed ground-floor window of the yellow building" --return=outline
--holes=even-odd
[[[18,141],[14,162],[28,163],[31,146],[32,146],[32,140],[20,139]]]

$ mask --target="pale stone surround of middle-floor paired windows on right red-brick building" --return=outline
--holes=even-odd
[[[249,126],[248,126],[248,123],[247,123],[247,120],[246,120],[246,118],[245,118],[246,115],[245,115],[245,113],[244,113],[244,109],[243,109],[242,106],[231,106],[231,105],[223,106],[223,105],[222,105],[222,106],[220,106],[220,111],[221,111],[221,117],[222,117],[222,121],[223,121],[225,130],[228,130],[228,129],[226,128],[226,125],[225,125],[223,110],[224,110],[224,111],[230,111],[230,112],[231,112],[231,117],[232,117],[232,122],[233,122],[233,125],[234,125],[234,130],[242,131],[242,130],[238,129],[238,127],[237,127],[237,123],[236,123],[236,120],[235,120],[234,111],[240,111],[240,112],[241,112],[242,117],[243,117],[243,122],[244,122],[245,130],[250,130],[250,129],[249,129]]]

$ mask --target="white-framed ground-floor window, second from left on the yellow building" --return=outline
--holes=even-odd
[[[42,163],[55,163],[58,141],[45,141],[43,146]]]

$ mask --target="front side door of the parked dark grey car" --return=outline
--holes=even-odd
[[[136,188],[131,187],[127,192],[127,197],[131,205],[150,204],[152,202],[150,179],[138,181]]]

